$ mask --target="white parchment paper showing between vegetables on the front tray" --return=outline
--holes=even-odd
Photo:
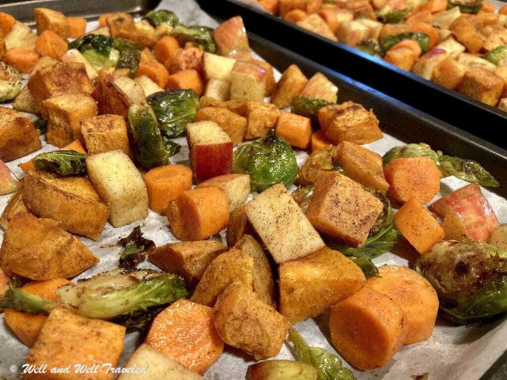
[[[193,0],[164,0],[159,8],[170,9],[176,12],[180,21],[184,24],[201,24],[215,27],[218,24],[209,16],[204,14]],[[96,23],[89,23],[88,29],[92,30]],[[248,25],[246,25],[248,28]],[[275,79],[280,77],[279,72],[275,72]],[[32,119],[35,117],[32,115]],[[382,119],[380,120],[382,128]],[[182,144],[182,150],[171,158],[173,164],[189,164],[188,148],[185,138],[175,139]],[[400,141],[389,135],[384,135],[379,141],[375,141],[366,146],[379,154],[384,154],[393,146],[408,142],[419,141]],[[32,153],[22,159],[7,163],[14,173],[21,178],[22,171],[17,167],[21,162],[28,161],[41,151],[54,150],[56,147],[46,144],[43,141],[42,150]],[[301,166],[307,157],[304,151],[296,151],[298,164]],[[487,162],[482,163],[486,168]],[[441,182],[441,194],[448,194],[451,191],[462,187],[466,182],[457,178],[445,178]],[[489,192],[483,188],[483,193],[495,210],[500,224],[507,223],[507,203],[504,199]],[[9,195],[0,197],[0,210],[3,210],[7,204]],[[152,239],[157,246],[177,240],[171,235],[167,223],[167,218],[150,210],[148,218],[126,226],[114,229],[109,223],[106,223],[105,229],[96,242],[81,238],[89,249],[100,259],[100,262],[93,268],[76,276],[74,280],[88,278],[96,273],[112,270],[117,267],[121,247],[114,246],[120,237],[128,235],[133,227],[141,225],[144,235]],[[213,239],[225,241],[225,233],[215,236]],[[3,240],[3,231],[0,230],[0,242]],[[393,248],[394,253],[387,253],[374,259],[377,265],[383,263],[396,263],[407,265],[408,261],[417,257],[417,253],[406,242],[401,241]],[[140,265],[141,268],[154,268],[150,263],[145,262]],[[336,353],[330,344],[328,313],[315,318],[308,319],[298,323],[295,327],[301,332],[303,337],[311,346],[318,346]],[[412,375],[429,373],[430,380],[474,380],[478,379],[495,362],[495,360],[507,350],[507,323],[505,317],[497,318],[487,323],[473,324],[469,326],[454,326],[442,319],[438,319],[437,325],[432,336],[419,344],[404,346],[394,356],[394,358],[384,367],[373,371],[353,372],[358,380],[377,380],[377,379],[407,379]],[[128,333],[125,338],[125,348],[119,365],[125,363],[135,348],[142,342],[142,334]],[[25,347],[14,336],[9,327],[5,324],[3,315],[0,315],[0,378],[21,378],[19,373],[10,373],[10,366],[16,365],[21,368],[24,358],[28,352]],[[286,345],[283,345],[280,354],[276,359],[292,359],[292,355]],[[253,363],[251,357],[239,350],[226,347],[224,354],[216,361],[206,372],[205,378],[208,380],[240,380],[244,379],[246,367]],[[344,362],[346,366],[347,363]]]

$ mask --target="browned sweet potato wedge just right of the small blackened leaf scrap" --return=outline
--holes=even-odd
[[[227,247],[211,240],[169,243],[157,247],[148,261],[164,272],[175,273],[185,279],[188,287],[195,286],[208,264]]]

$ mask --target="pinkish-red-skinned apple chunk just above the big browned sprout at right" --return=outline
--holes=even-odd
[[[452,202],[442,220],[446,240],[487,242],[498,219],[482,193],[473,193]]]

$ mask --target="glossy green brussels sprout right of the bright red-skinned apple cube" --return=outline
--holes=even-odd
[[[232,172],[249,174],[251,190],[261,193],[280,182],[290,187],[298,177],[298,163],[291,145],[271,134],[239,145]]]

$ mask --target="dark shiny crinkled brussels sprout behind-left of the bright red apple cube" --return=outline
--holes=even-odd
[[[146,99],[155,112],[162,134],[178,137],[185,133],[188,123],[194,121],[199,97],[194,90],[166,90]]]

